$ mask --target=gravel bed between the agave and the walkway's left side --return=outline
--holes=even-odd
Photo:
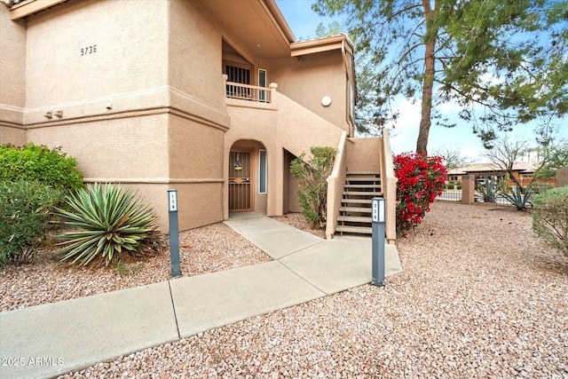
[[[230,270],[269,262],[271,257],[218,223],[179,233],[180,269],[183,276]],[[169,280],[170,251],[117,269],[77,268],[59,263],[55,250],[44,251],[33,264],[6,265],[0,271],[0,311],[53,303]]]

